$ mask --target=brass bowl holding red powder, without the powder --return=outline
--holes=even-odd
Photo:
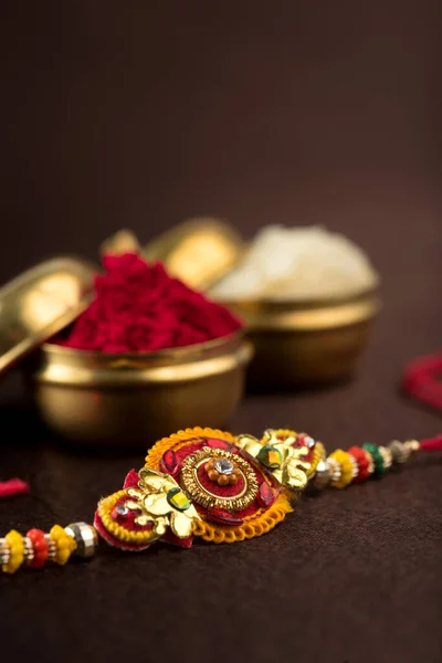
[[[251,355],[242,334],[135,355],[46,344],[30,380],[41,418],[57,434],[146,449],[187,427],[224,427],[241,400]]]

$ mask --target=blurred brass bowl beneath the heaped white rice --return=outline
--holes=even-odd
[[[254,345],[252,389],[313,386],[350,375],[379,312],[377,290],[324,302],[235,302]]]

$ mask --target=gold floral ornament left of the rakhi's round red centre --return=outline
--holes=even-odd
[[[193,520],[200,519],[197,509],[168,474],[161,474],[149,467],[139,471],[138,488],[127,488],[128,499],[125,506],[139,513],[135,523],[140,527],[152,524],[158,536],[166,534],[170,527],[181,539],[192,534]]]

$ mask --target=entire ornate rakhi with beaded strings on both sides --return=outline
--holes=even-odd
[[[261,439],[212,429],[187,429],[157,442],[139,472],[102,498],[94,525],[74,523],[50,533],[17,530],[0,539],[7,573],[22,565],[64,565],[72,554],[92,557],[97,533],[112,546],[139,551],[155,541],[190,548],[193,538],[233,544],[271,532],[304,491],[345,488],[380,477],[419,451],[442,450],[430,440],[364,444],[328,456],[322,442],[292,430],[267,430]]]

